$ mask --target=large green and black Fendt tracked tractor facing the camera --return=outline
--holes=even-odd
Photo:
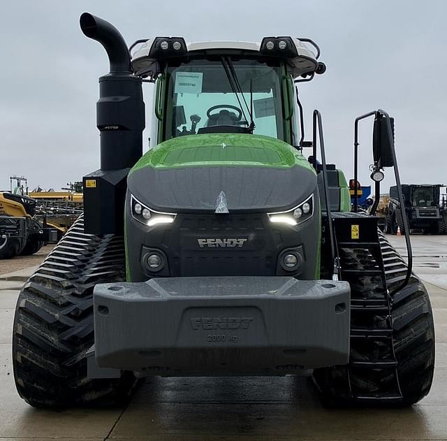
[[[128,49],[105,20],[84,13],[80,27],[110,61],[101,168],[84,178],[85,214],[20,293],[20,396],[64,407],[123,399],[151,375],[310,371],[327,403],[423,398],[434,328],[409,240],[406,264],[376,217],[351,208],[317,110],[305,140],[294,83],[324,73],[316,43],[157,37]],[[142,82],[156,89],[144,155]],[[355,164],[367,117],[377,196],[385,167],[400,189],[393,121],[358,117]]]

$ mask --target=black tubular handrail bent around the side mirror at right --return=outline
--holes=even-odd
[[[397,157],[396,157],[396,150],[395,150],[395,145],[394,145],[394,139],[393,139],[393,129],[391,128],[391,121],[390,121],[390,115],[388,115],[388,113],[385,112],[385,110],[374,110],[372,112],[369,113],[365,113],[365,115],[361,115],[360,117],[356,118],[356,122],[354,123],[354,186],[355,186],[355,191],[354,191],[354,212],[358,212],[358,194],[357,194],[357,189],[358,189],[358,122],[360,122],[360,120],[364,120],[367,117],[370,117],[374,115],[374,117],[377,119],[378,117],[385,117],[386,119],[386,131],[388,133],[388,141],[390,143],[391,146],[391,154],[393,155],[393,168],[394,168],[394,174],[395,174],[395,181],[396,181],[396,187],[397,187],[397,196],[399,197],[399,208],[400,208],[400,213],[402,216],[402,223],[404,226],[404,236],[405,236],[405,244],[406,244],[406,253],[407,253],[407,268],[406,268],[406,277],[404,282],[402,282],[402,284],[400,286],[398,286],[397,288],[395,288],[391,293],[390,296],[393,296],[394,294],[397,293],[397,291],[400,291],[400,289],[406,287],[406,284],[408,284],[410,277],[411,277],[411,272],[413,270],[413,252],[411,250],[411,241],[410,241],[410,233],[409,233],[409,229],[408,229],[408,219],[406,217],[406,210],[404,209],[404,195],[402,194],[402,185],[400,183],[400,175],[399,175],[399,167],[397,166]],[[380,182],[376,182],[376,188],[375,188],[375,201],[374,201],[374,205],[376,205],[379,203],[379,198],[380,198]],[[373,208],[374,208],[373,205]]]

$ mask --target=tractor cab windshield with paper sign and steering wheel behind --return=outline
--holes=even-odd
[[[166,69],[163,138],[256,133],[284,139],[281,67],[257,59],[193,59]]]

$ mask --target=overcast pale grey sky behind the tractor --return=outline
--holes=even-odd
[[[27,176],[30,188],[59,189],[99,168],[95,103],[108,62],[79,29],[84,11],[115,24],[128,44],[157,35],[313,38],[328,70],[303,84],[300,95],[309,136],[312,110],[323,113],[328,161],[350,178],[353,120],[383,108],[395,117],[402,182],[447,183],[445,1],[2,0],[0,6],[0,189],[9,188],[14,173]],[[150,113],[148,94],[146,103]],[[371,136],[364,124],[366,185]],[[147,126],[146,144],[148,136]],[[383,191],[393,185],[391,175],[390,169]]]

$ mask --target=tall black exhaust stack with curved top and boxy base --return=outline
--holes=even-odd
[[[83,13],[80,28],[103,45],[110,63],[110,73],[99,78],[96,125],[101,168],[84,177],[84,229],[91,234],[122,234],[127,174],[142,156],[142,80],[133,75],[126,42],[112,24]]]

